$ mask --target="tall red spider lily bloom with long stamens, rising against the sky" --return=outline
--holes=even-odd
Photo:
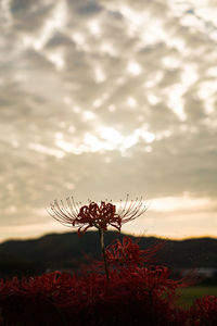
[[[124,223],[139,217],[145,211],[142,198],[133,201],[127,196],[125,203],[120,201],[116,210],[116,205],[105,201],[101,201],[100,205],[90,201],[89,205],[81,206],[72,197],[66,199],[66,204],[62,200],[60,204],[58,200],[51,203],[49,214],[65,226],[79,227],[78,235],[84,235],[90,227],[106,230],[108,226],[113,226],[120,231]]]

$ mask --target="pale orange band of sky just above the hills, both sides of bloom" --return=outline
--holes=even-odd
[[[154,236],[168,239],[217,238],[216,202],[201,198],[161,198],[146,202],[148,211],[123,225],[122,233],[133,236]],[[115,203],[118,206],[118,203]],[[201,211],[199,214],[199,210]],[[41,214],[46,214],[46,210]],[[12,225],[1,229],[0,241],[9,239],[38,238],[51,233],[76,231],[61,225],[50,215],[43,223]],[[110,227],[113,230],[114,228]],[[90,228],[94,230],[94,228]]]

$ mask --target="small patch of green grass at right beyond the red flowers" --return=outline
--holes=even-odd
[[[203,296],[216,296],[217,297],[217,286],[194,286],[179,290],[181,297],[178,300],[178,304],[183,308],[189,308],[196,298]]]

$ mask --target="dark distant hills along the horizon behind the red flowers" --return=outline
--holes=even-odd
[[[105,244],[124,236],[107,231]],[[138,239],[142,249],[159,241],[154,237],[131,238]],[[95,231],[88,231],[82,237],[78,237],[77,233],[65,233],[50,234],[38,239],[5,241],[0,243],[0,276],[33,275],[47,269],[77,269],[86,262],[85,254],[100,258]],[[170,267],[217,268],[217,239],[167,240],[155,261]]]

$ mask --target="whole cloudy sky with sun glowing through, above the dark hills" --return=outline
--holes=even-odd
[[[0,241],[69,231],[54,199],[217,237],[216,0],[0,0]]]

